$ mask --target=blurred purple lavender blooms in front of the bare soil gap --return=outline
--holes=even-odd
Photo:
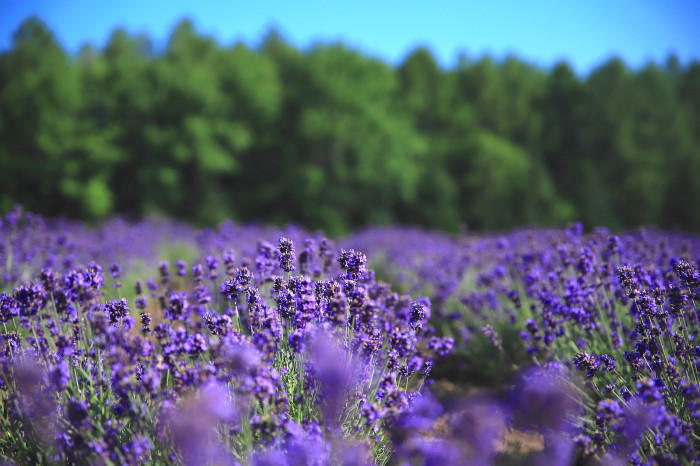
[[[565,368],[522,371],[505,395],[476,394],[445,404],[423,393],[391,424],[399,464],[490,465],[507,461],[509,435],[529,431],[540,449],[528,464],[571,464],[578,396]]]

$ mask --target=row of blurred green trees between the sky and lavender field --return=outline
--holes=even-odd
[[[673,56],[581,77],[418,48],[392,67],[275,31],[222,46],[187,20],[164,50],[115,30],[70,56],[34,17],[0,55],[0,109],[0,211],[700,230],[700,63]]]

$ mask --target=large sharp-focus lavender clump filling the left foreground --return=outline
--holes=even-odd
[[[282,237],[252,256],[163,261],[159,280],[134,283],[135,309],[109,298],[129,287],[105,288],[97,263],[44,268],[0,294],[3,454],[188,465],[389,455],[386,423],[453,340],[435,334],[430,300],[378,281],[364,254],[301,244],[299,255]]]

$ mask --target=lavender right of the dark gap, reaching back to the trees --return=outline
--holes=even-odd
[[[390,280],[430,296],[460,351],[483,338],[511,360],[524,351],[580,373],[585,410],[568,435],[579,458],[698,461],[697,237],[584,234],[575,224],[459,237],[370,229],[348,241],[381,257]],[[501,333],[513,331],[519,342]]]

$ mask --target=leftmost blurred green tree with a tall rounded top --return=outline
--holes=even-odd
[[[22,202],[68,215],[89,210],[85,187],[66,182],[81,163],[74,158],[81,105],[76,70],[39,19],[25,20],[12,49],[0,56],[0,83],[2,207]],[[88,191],[99,191],[94,186]]]

